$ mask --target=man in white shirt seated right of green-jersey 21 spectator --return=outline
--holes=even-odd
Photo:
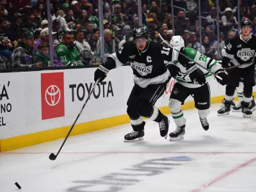
[[[90,60],[93,57],[93,52],[88,42],[84,41],[83,30],[80,29],[76,32],[76,41],[74,42],[74,44],[76,45],[77,51],[79,52],[84,51],[87,53],[87,54],[83,54],[83,57],[81,56],[81,61],[83,62],[83,64],[85,65],[90,64]]]

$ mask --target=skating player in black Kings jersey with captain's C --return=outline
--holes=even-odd
[[[184,63],[189,62],[183,56],[178,59]],[[166,139],[169,120],[154,104],[163,95],[166,84],[170,81],[169,70],[177,69],[174,65],[166,67],[166,64],[172,61],[172,48],[150,42],[147,28],[136,27],[133,31],[133,41],[125,42],[119,51],[109,55],[106,63],[102,63],[95,71],[94,80],[100,78],[102,81],[109,70],[120,67],[127,61],[134,74],[134,87],[127,101],[127,114],[133,131],[124,136],[124,141],[143,140],[145,122],[142,116],[158,122],[160,134]],[[204,78],[204,75],[196,70],[195,63],[188,65],[188,70],[191,71],[193,79],[200,81],[200,78]]]

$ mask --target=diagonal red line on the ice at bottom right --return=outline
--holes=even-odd
[[[232,173],[235,173],[235,172],[241,170],[241,168],[244,168],[244,167],[248,166],[249,164],[253,163],[253,161],[256,161],[256,158],[250,159],[249,161],[246,161],[245,163],[237,166],[236,168],[233,168],[232,170],[229,170],[228,172],[223,173],[223,175],[220,175],[220,176],[216,177],[215,179],[213,179],[213,180],[211,180],[209,182],[206,182],[205,184],[203,184],[199,188],[193,189],[191,192],[198,192],[198,191],[201,191],[203,189],[206,190],[212,184],[218,182],[219,180],[221,180],[221,179],[223,179],[225,177],[228,177],[228,175],[231,175]]]

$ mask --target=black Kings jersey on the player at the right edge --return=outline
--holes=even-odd
[[[221,51],[222,65],[228,66],[228,63],[231,63],[239,66],[239,68],[248,67],[254,63],[255,49],[256,36],[250,35],[248,41],[244,41],[241,35],[235,36]]]

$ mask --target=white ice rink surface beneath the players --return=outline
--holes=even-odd
[[[217,116],[202,129],[196,109],[184,111],[183,141],[161,138],[158,124],[146,120],[143,141],[124,143],[129,124],[0,154],[0,191],[164,192],[256,191],[256,132],[244,131],[241,113]],[[170,118],[170,129],[175,124]],[[15,186],[18,182],[22,189]]]

